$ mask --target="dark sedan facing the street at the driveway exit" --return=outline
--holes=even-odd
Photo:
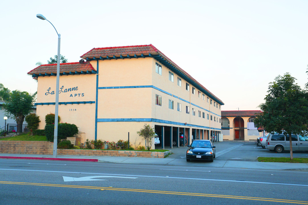
[[[215,147],[211,140],[193,140],[191,145],[187,145],[186,161],[190,160],[210,160],[215,158]]]

